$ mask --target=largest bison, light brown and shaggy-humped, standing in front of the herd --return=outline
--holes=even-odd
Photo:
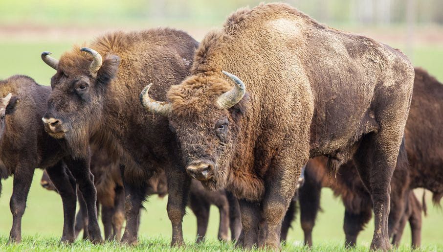
[[[149,98],[148,88],[141,95],[169,118],[188,174],[240,199],[238,245],[257,244],[263,219],[259,245],[280,246],[302,166],[326,155],[331,169],[356,162],[377,216],[371,248],[388,249],[389,183],[413,81],[399,50],[270,3],[241,9],[207,34],[192,75],[171,86],[167,101]]]

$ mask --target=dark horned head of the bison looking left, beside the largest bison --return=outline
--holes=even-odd
[[[103,93],[115,77],[119,57],[102,56],[83,47],[65,53],[60,61],[43,52],[43,61],[57,70],[51,79],[52,92],[42,118],[44,129],[55,138],[65,138],[75,152],[89,146],[89,138],[101,123]],[[73,153],[79,156],[79,153]]]

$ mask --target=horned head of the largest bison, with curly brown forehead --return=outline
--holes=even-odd
[[[168,116],[176,133],[186,171],[209,189],[225,187],[230,160],[235,156],[241,118],[245,112],[244,83],[235,75],[234,89],[221,73],[194,75],[168,92],[170,103],[149,97],[152,84],[140,94],[143,106]]]

